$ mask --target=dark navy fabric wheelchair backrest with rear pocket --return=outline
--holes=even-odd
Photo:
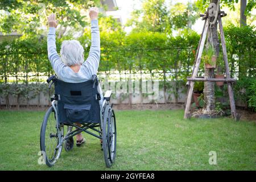
[[[98,81],[68,83],[55,80],[55,96],[58,96],[57,112],[60,123],[100,123]]]

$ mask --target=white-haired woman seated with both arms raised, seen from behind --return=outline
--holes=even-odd
[[[65,40],[61,45],[60,56],[56,51],[55,31],[57,21],[55,14],[48,18],[49,33],[47,39],[48,57],[57,77],[65,82],[79,83],[88,81],[96,75],[100,63],[100,31],[98,28],[98,9],[89,10],[91,20],[92,45],[89,56],[84,61],[84,48],[77,40]],[[79,125],[79,124],[77,124]],[[85,142],[82,134],[76,135],[76,144],[80,146]]]

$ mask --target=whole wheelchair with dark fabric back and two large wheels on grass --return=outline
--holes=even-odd
[[[112,92],[106,91],[102,98],[96,75],[92,80],[81,83],[64,82],[53,75],[47,82],[49,89],[55,85],[55,94],[51,97],[51,107],[44,115],[40,131],[40,148],[45,164],[52,167],[60,158],[63,146],[65,151],[71,151],[73,137],[84,131],[102,140],[105,164],[111,167],[117,145],[115,113],[110,105]],[[67,126],[65,135],[64,126]],[[72,131],[73,127],[75,130]]]

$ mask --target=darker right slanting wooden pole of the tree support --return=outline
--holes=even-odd
[[[221,46],[222,46],[223,59],[224,59],[225,68],[226,68],[226,78],[230,78],[228,55],[226,53],[226,42],[225,42],[224,30],[223,30],[222,21],[221,21],[220,16],[218,16],[218,24],[220,27]],[[233,118],[237,121],[239,119],[239,117],[236,113],[234,94],[233,94],[232,85],[230,82],[228,82],[228,93],[229,93],[229,102],[230,102],[229,104],[230,104],[231,113],[232,113]]]

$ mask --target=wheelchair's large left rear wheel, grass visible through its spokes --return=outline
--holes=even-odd
[[[59,145],[64,134],[64,127],[57,128],[56,116],[53,107],[49,107],[44,115],[44,120],[40,132],[40,148],[43,155],[43,160],[47,166],[52,167],[56,160],[60,158],[63,144]]]

